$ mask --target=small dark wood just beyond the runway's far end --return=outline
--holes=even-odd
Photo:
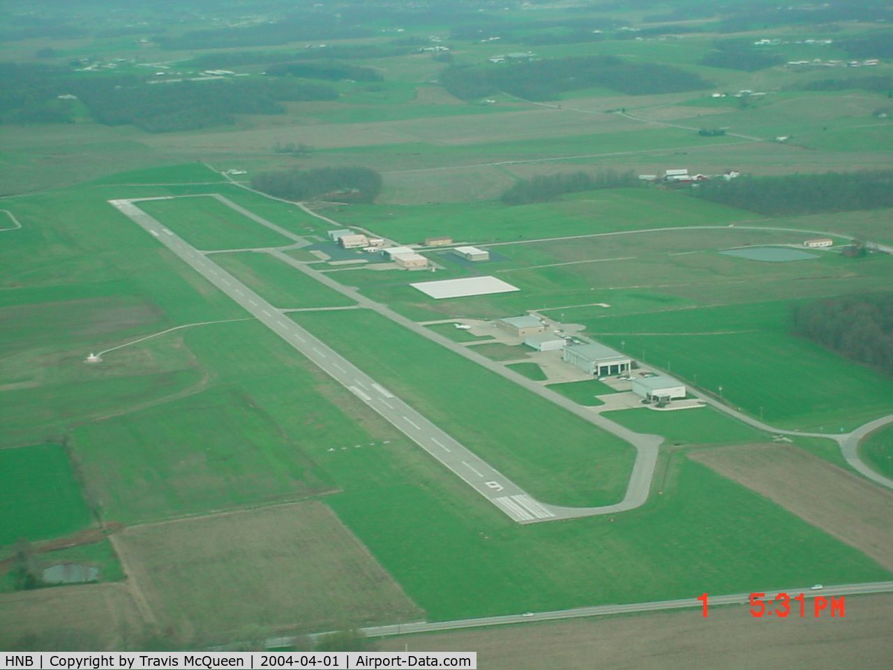
[[[365,167],[258,172],[251,186],[286,200],[328,198],[339,202],[371,203],[381,192],[381,175]]]

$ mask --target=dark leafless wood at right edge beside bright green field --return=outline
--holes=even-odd
[[[797,334],[893,375],[893,293],[831,297],[793,311]]]

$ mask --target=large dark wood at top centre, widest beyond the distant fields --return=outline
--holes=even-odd
[[[498,67],[451,65],[440,73],[447,90],[463,100],[505,92],[528,100],[553,100],[563,91],[604,86],[632,96],[708,88],[697,74],[672,65],[626,63],[613,55],[553,58]]]

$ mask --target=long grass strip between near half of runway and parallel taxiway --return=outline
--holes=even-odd
[[[371,311],[292,318],[544,502],[622,498],[635,451],[613,435]]]

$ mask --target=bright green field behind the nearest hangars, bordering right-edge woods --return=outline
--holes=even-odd
[[[889,413],[893,384],[790,334],[788,302],[586,321],[612,347],[782,428],[838,432]],[[729,352],[736,352],[729,356]],[[805,391],[808,389],[808,392]]]

